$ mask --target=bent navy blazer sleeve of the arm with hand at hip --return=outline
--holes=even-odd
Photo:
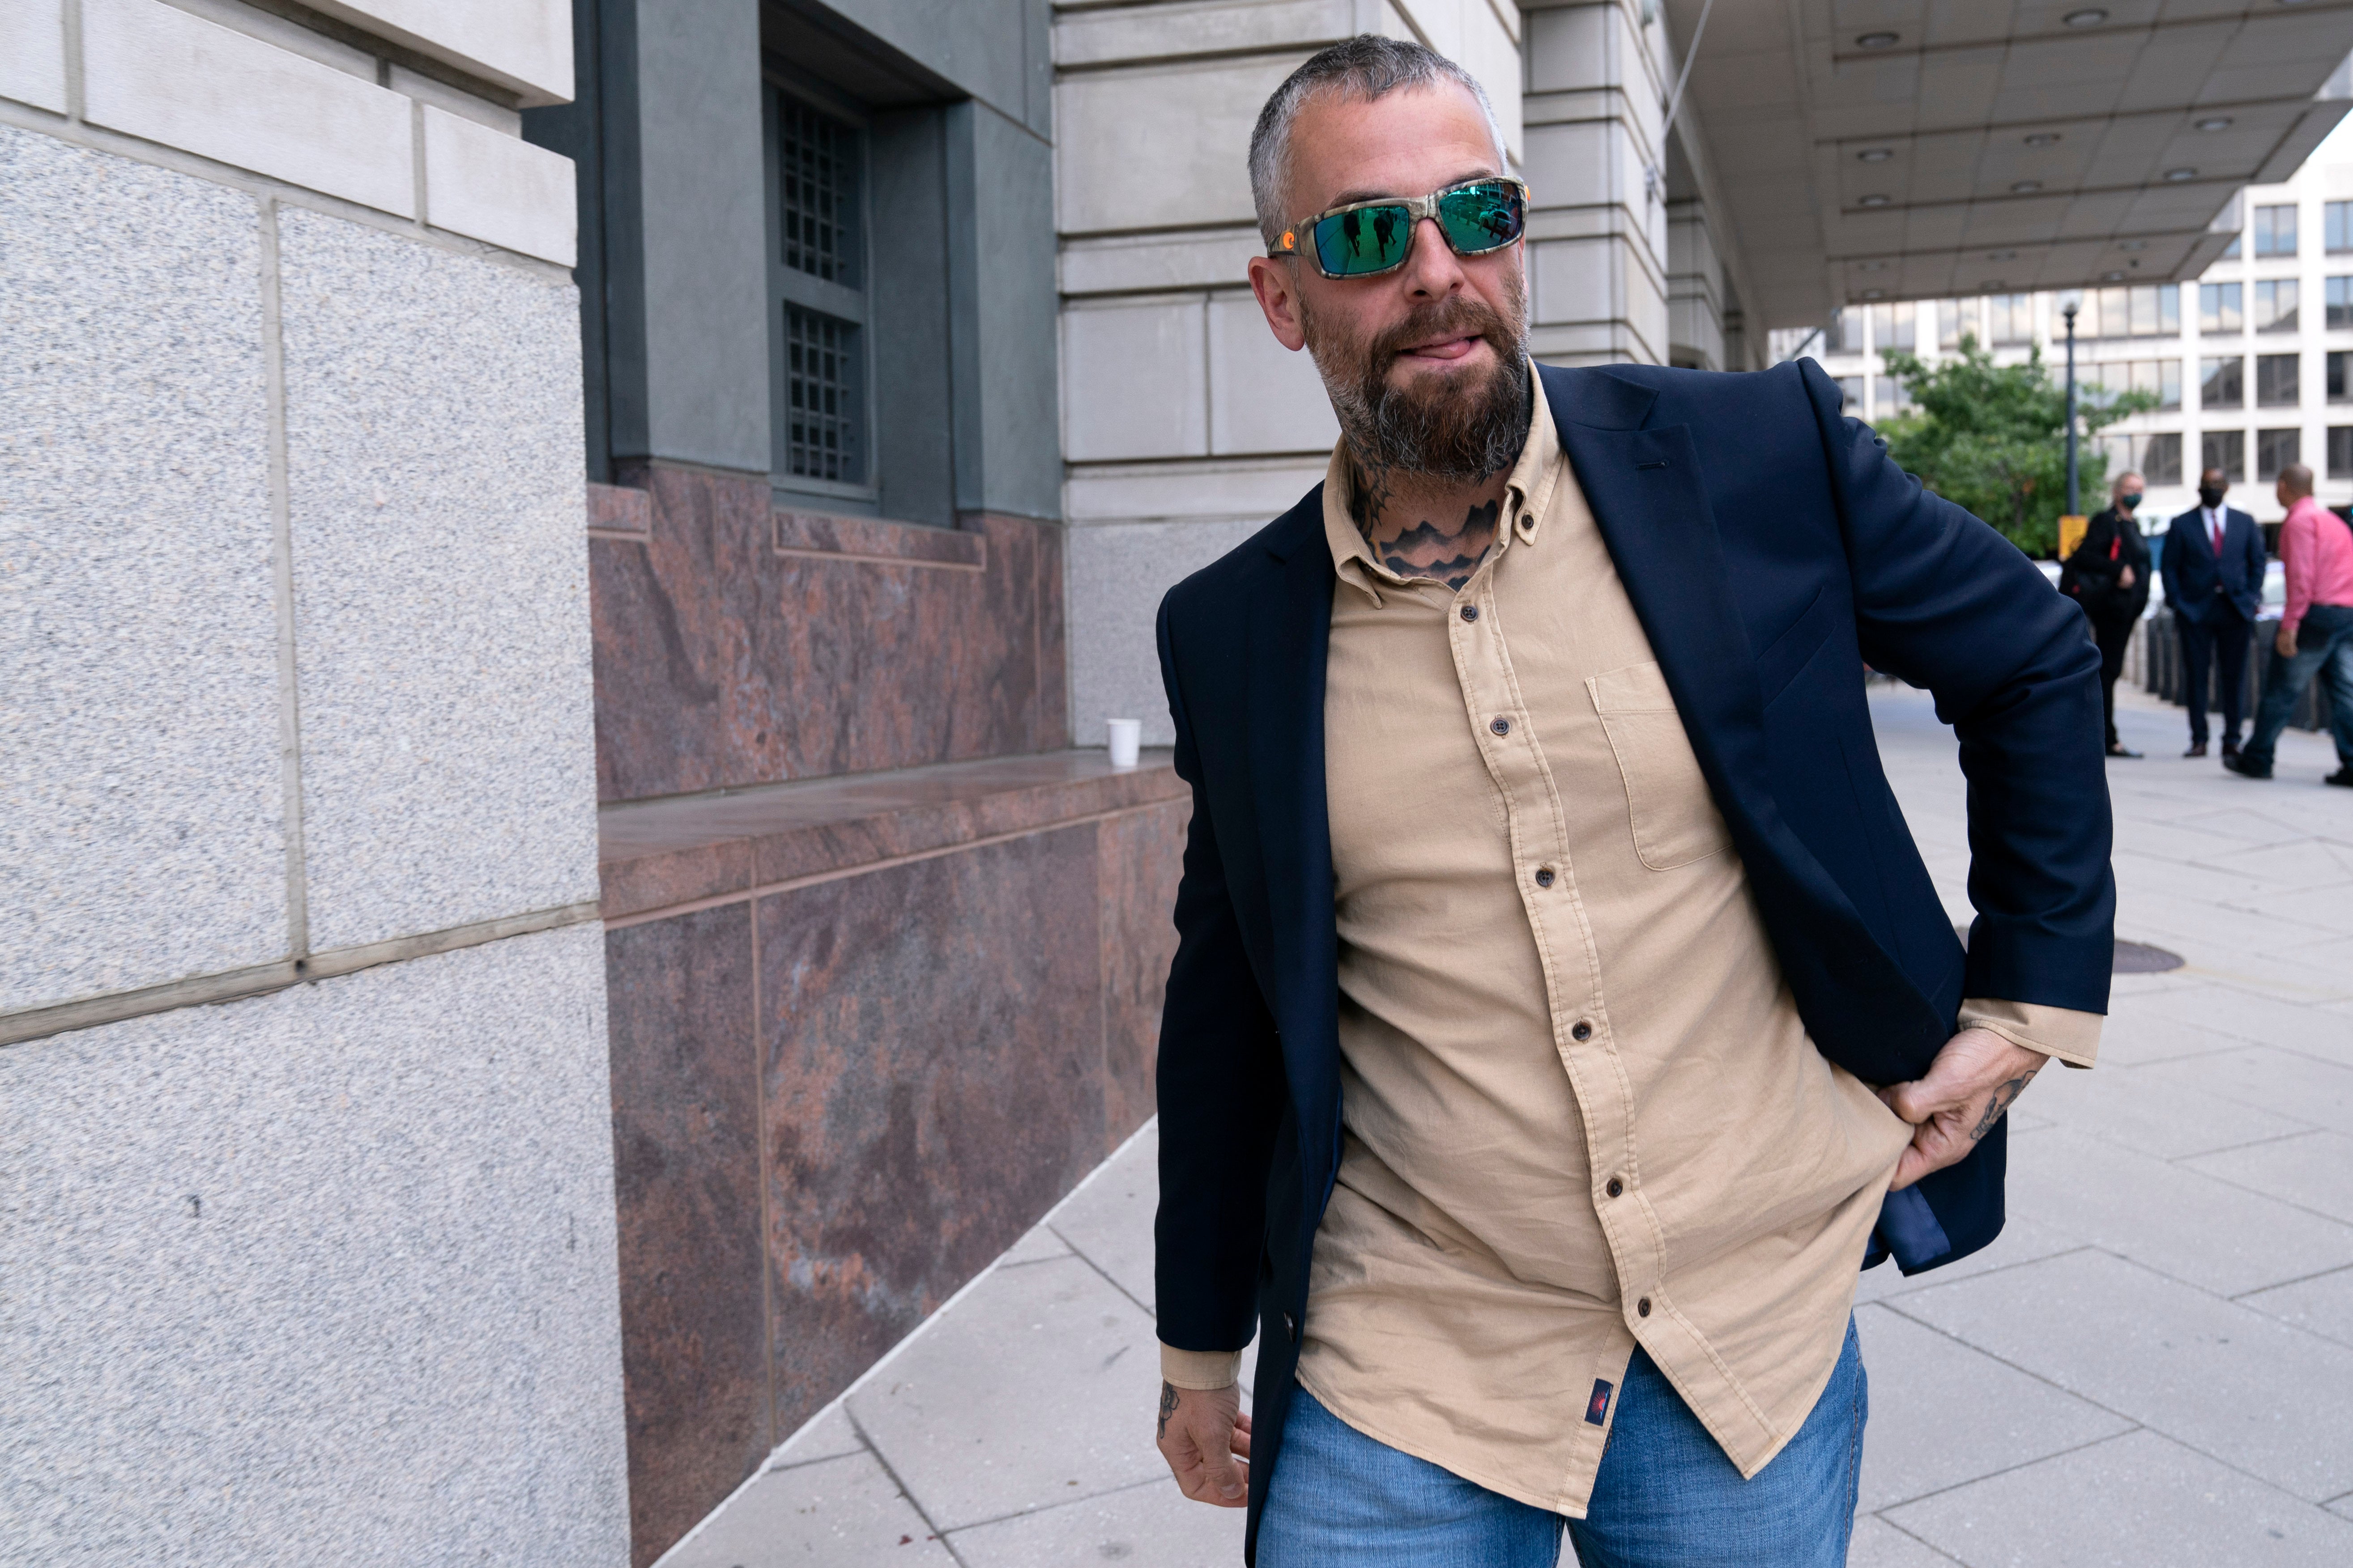
[[[1854,581],[1864,661],[1937,696],[1969,780],[1967,997],[2108,1011],[2115,879],[2085,618],[1991,527],[1897,468],[1838,383],[1807,390]]]

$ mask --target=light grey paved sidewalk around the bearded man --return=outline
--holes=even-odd
[[[1875,691],[1889,778],[1967,919],[1953,738]],[[2289,731],[2273,783],[2184,762],[2127,698],[2118,976],[2097,1072],[2014,1112],[2009,1227],[1857,1293],[1854,1568],[2353,1563],[2353,790]],[[1151,1446],[1153,1128],[1106,1161],[664,1568],[1240,1561]]]

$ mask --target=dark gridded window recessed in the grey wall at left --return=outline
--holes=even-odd
[[[791,480],[864,489],[864,136],[784,89],[769,94],[774,463]]]

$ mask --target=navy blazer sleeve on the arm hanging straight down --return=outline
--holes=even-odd
[[[1176,722],[1176,776],[1193,785],[1193,820],[1176,884],[1176,959],[1160,1013],[1153,1300],[1162,1345],[1242,1349],[1257,1324],[1266,1178],[1287,1098],[1282,1046],[1233,914],[1217,844],[1217,790],[1193,741],[1165,599],[1158,639]]]

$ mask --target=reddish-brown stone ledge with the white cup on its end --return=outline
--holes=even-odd
[[[1169,752],[1066,750],[713,790],[598,813],[607,922],[1184,799]]]

